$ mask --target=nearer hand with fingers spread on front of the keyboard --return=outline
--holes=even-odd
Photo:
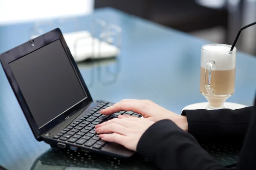
[[[95,131],[100,134],[102,140],[116,142],[129,150],[136,151],[140,137],[153,124],[151,120],[137,117],[115,118],[96,125]]]

